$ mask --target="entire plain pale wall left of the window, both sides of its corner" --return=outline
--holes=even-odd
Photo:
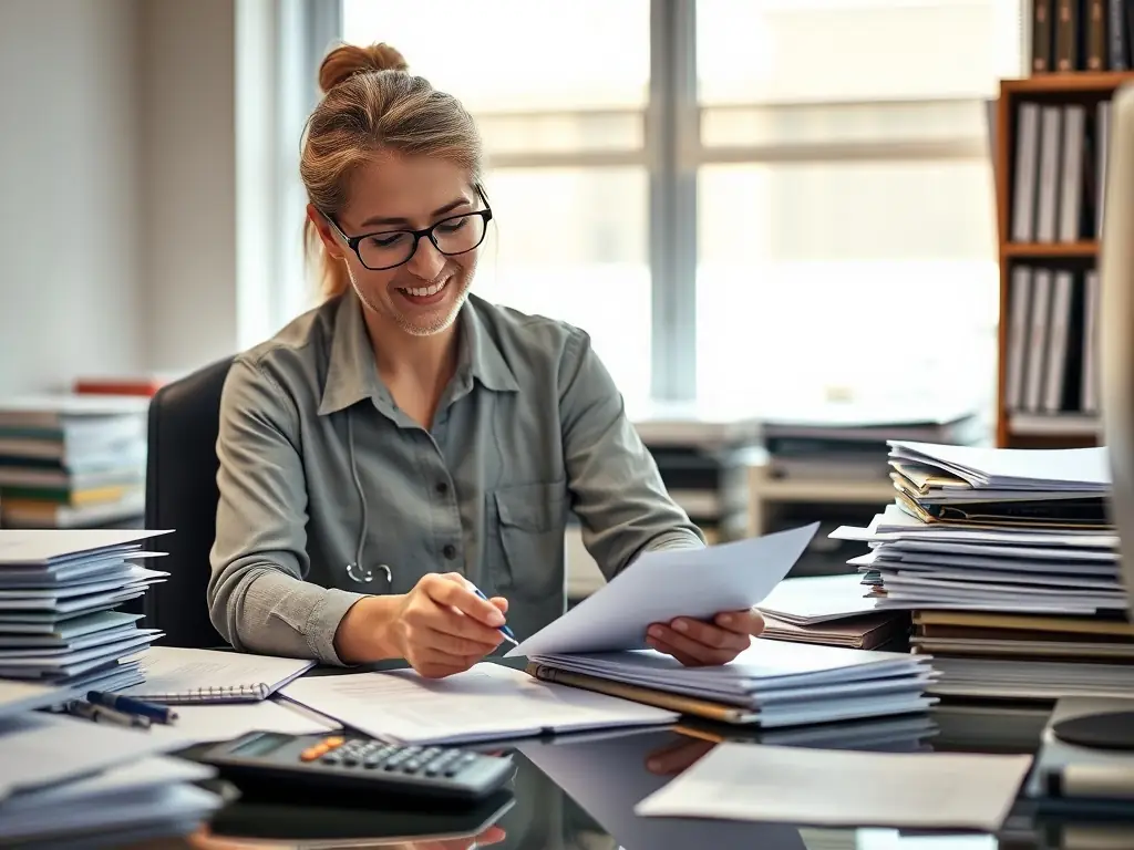
[[[0,0],[0,398],[237,350],[232,0]]]

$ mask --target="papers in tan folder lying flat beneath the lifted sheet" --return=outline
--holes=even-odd
[[[692,716],[764,729],[922,712],[928,657],[756,639],[723,666],[686,668],[653,651],[533,655],[538,679]]]

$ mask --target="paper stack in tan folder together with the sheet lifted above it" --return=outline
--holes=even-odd
[[[926,708],[929,663],[908,654],[762,639],[731,664],[685,669],[644,648],[652,623],[761,605],[814,533],[810,525],[646,553],[508,656],[525,656],[543,681],[730,723],[781,726]]]

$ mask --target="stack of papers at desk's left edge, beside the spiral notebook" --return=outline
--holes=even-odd
[[[142,530],[0,530],[0,679],[74,692],[143,681],[133,656],[160,637],[115,609],[169,575]]]

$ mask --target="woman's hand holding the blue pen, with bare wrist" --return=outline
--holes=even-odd
[[[347,663],[404,658],[422,675],[440,679],[468,670],[503,636],[508,602],[485,602],[457,572],[423,576],[401,596],[369,596],[339,623],[336,646]]]

